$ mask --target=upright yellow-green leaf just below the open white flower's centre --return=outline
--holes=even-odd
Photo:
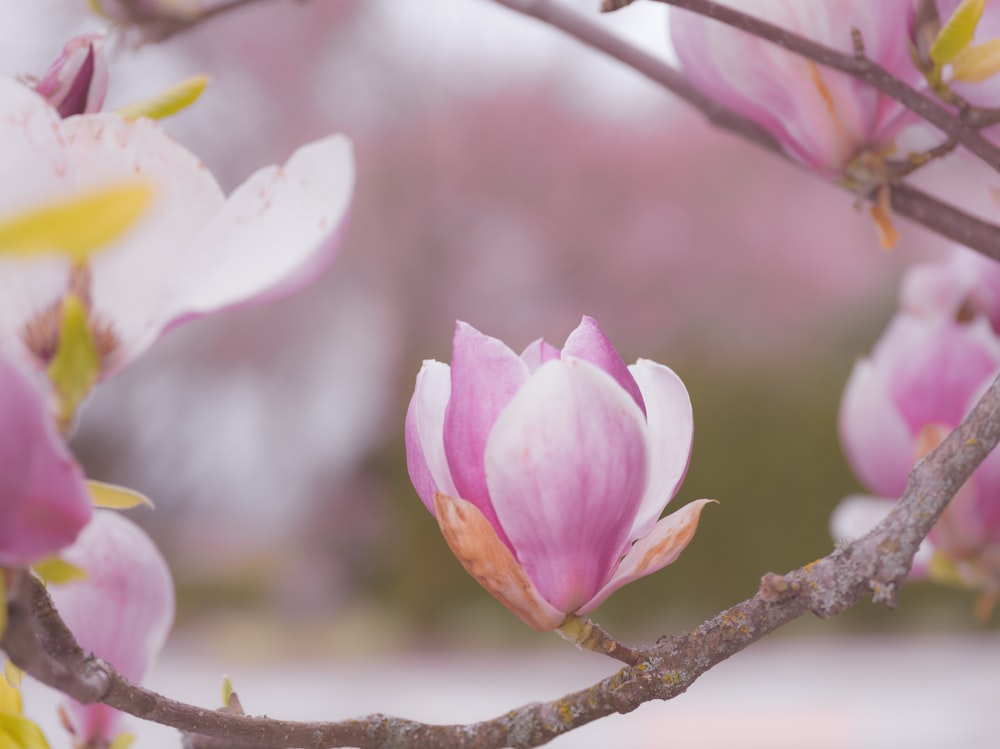
[[[101,356],[87,320],[87,308],[76,294],[63,299],[59,346],[49,364],[49,380],[59,396],[59,424],[66,430],[73,414],[101,373]]]

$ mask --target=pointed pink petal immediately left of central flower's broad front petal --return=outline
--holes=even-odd
[[[448,465],[457,496],[478,507],[505,541],[486,487],[483,454],[498,414],[527,379],[527,365],[502,341],[463,322],[455,326],[451,400],[444,420]]]

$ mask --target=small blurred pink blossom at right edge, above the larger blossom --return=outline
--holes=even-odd
[[[923,317],[982,315],[1000,334],[1000,263],[956,247],[944,262],[912,266],[903,277],[900,302]]]

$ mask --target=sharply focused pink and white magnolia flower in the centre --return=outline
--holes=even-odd
[[[673,562],[709,500],[658,520],[687,472],[684,384],[626,367],[585,317],[521,356],[458,323],[406,415],[413,485],[466,570],[526,624],[559,627]]]

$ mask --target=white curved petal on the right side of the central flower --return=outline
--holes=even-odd
[[[645,536],[677,493],[691,460],[694,415],[687,388],[672,369],[648,359],[629,367],[646,402],[649,483],[629,538]]]

